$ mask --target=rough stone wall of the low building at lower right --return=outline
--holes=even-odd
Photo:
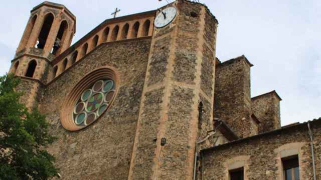
[[[316,179],[321,178],[321,118],[311,122]],[[228,180],[229,170],[244,167],[244,179],[283,179],[281,158],[298,154],[300,179],[312,179],[307,124],[302,123],[202,151],[202,179]],[[199,176],[202,173],[198,172]]]

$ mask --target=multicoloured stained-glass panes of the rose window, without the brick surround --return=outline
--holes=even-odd
[[[94,122],[110,106],[114,95],[115,83],[113,80],[97,80],[78,97],[72,112],[75,124],[87,126]]]

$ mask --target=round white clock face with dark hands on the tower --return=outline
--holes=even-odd
[[[167,7],[166,9],[161,10],[154,20],[155,27],[165,27],[167,24],[171,23],[176,16],[175,7]]]

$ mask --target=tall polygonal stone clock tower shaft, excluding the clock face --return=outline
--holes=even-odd
[[[200,3],[173,5],[176,19],[153,31],[128,179],[193,179],[200,101],[213,129],[217,21]]]

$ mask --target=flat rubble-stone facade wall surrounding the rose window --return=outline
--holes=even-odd
[[[58,137],[48,150],[63,179],[127,179],[149,46],[150,38],[102,43],[42,90],[40,110]],[[114,67],[119,77],[115,101],[94,124],[67,131],[60,122],[65,97],[85,74],[102,66]]]

